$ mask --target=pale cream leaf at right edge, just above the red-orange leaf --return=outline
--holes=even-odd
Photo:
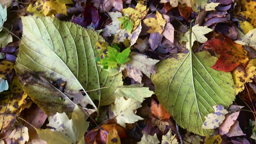
[[[246,35],[238,35],[235,43],[250,46],[256,50],[256,29],[250,30]]]

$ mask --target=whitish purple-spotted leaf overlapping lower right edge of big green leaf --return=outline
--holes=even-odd
[[[203,122],[203,129],[216,129],[225,120],[225,115],[228,113],[224,106],[212,106],[214,113],[210,113],[205,116],[205,121]],[[239,114],[239,113],[238,113]]]

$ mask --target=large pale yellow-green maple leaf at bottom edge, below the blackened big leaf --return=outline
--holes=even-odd
[[[84,113],[79,106],[75,106],[71,119],[63,112],[62,114],[48,117],[50,129],[35,129],[39,138],[47,141],[47,144],[84,144],[84,135],[89,122],[85,120]]]

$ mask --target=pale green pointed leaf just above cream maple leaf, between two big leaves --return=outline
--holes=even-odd
[[[143,85],[122,85],[115,90],[115,94],[119,97],[129,97],[133,100],[143,102],[144,98],[151,97],[154,94],[149,88]]]

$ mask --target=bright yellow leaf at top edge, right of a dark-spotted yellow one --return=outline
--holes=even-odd
[[[66,4],[72,4],[72,0],[47,0],[44,2],[44,15],[50,16],[50,15],[56,15],[57,13],[61,13],[64,15],[67,14],[67,8]]]

